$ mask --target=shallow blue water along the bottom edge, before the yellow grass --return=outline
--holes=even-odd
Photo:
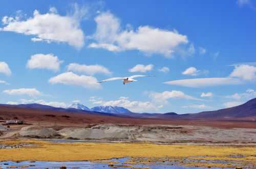
[[[122,162],[126,161],[128,158],[121,158],[121,159],[111,159],[114,161],[119,161],[120,163],[115,163],[117,164],[122,164]],[[30,166],[28,166],[30,165]],[[95,162],[90,162],[90,161],[65,161],[65,162],[55,162],[55,161],[20,161],[20,162],[15,162],[15,161],[2,161],[0,162],[0,168],[8,168],[10,166],[17,166],[17,168],[24,168],[23,166],[28,166],[26,168],[60,168],[61,166],[66,166],[67,168],[70,169],[78,169],[78,168],[84,168],[84,169],[93,169],[93,168],[98,168],[98,169],[113,169],[113,167],[108,166],[108,163],[95,163]],[[191,169],[191,168],[200,168],[200,167],[185,167],[185,166],[179,166],[179,165],[132,165],[133,167],[148,167],[151,169],[163,169],[163,168],[174,168],[174,169]],[[130,167],[117,167],[120,169],[127,169]],[[202,168],[202,167],[201,167]]]

